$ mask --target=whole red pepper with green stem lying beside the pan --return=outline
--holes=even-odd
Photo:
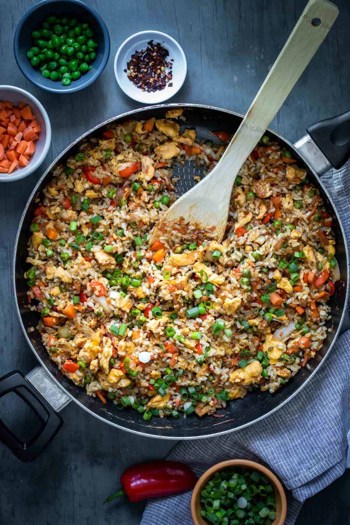
[[[109,496],[105,503],[124,494],[136,502],[184,492],[193,489],[197,476],[183,463],[156,460],[128,468],[120,481],[124,490]]]

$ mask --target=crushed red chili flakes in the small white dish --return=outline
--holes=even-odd
[[[174,59],[166,61],[169,51],[160,42],[154,44],[153,40],[150,40],[147,46],[146,49],[135,51],[131,55],[128,69],[124,69],[124,72],[128,74],[129,80],[136,88],[142,91],[154,93],[166,86],[172,87],[173,82],[169,81],[173,78],[171,62]]]

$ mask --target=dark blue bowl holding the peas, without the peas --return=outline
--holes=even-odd
[[[78,22],[87,22],[93,30],[93,39],[97,42],[96,58],[90,62],[90,71],[81,75],[79,80],[72,80],[70,86],[62,86],[60,80],[54,82],[44,78],[40,69],[34,69],[27,57],[27,51],[33,46],[31,33],[40,28],[41,23],[50,15],[70,18],[77,18]],[[90,86],[102,73],[107,64],[111,49],[110,38],[107,26],[100,15],[91,7],[80,2],[80,0],[43,0],[20,19],[16,27],[14,36],[14,53],[19,69],[30,82],[39,88],[52,91],[54,93],[72,93]]]

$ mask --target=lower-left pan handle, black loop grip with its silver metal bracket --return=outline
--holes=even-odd
[[[41,425],[35,436],[23,442],[0,418],[0,440],[18,459],[30,463],[45,450],[63,425],[63,419],[57,411],[70,402],[70,397],[41,366],[37,366],[26,377],[18,370],[0,377],[0,398],[9,392],[22,398],[36,413]]]

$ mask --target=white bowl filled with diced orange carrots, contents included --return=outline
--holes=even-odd
[[[24,89],[0,86],[0,182],[37,170],[50,143],[50,120],[38,99]]]

